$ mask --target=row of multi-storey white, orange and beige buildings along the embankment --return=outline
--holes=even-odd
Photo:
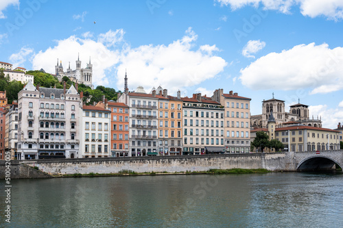
[[[274,98],[263,101],[266,125],[252,129],[251,99],[223,89],[212,97],[200,93],[181,97],[180,91],[174,97],[161,86],[149,93],[141,86],[129,92],[126,75],[117,101],[103,98],[84,105],[82,97],[78,84],[67,89],[64,83],[58,89],[28,81],[18,101],[0,109],[0,158],[6,151],[18,160],[250,153],[257,131],[265,131],[292,151],[339,149],[342,140],[342,131],[303,118],[308,117],[306,105],[295,111],[299,118],[279,123],[283,117],[274,115],[284,114],[284,101]],[[314,123],[318,126],[310,126]]]

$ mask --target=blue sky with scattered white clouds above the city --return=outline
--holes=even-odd
[[[343,0],[1,0],[0,61],[55,73],[93,64],[94,86],[171,95],[223,88],[309,105],[343,123]]]

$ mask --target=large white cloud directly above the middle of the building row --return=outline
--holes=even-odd
[[[126,69],[130,90],[143,86],[148,91],[153,85],[161,85],[170,94],[179,89],[185,91],[189,86],[215,77],[224,70],[227,63],[200,48],[193,51],[197,37],[189,28],[185,36],[169,45],[128,47],[123,51],[117,68],[118,88],[123,88]],[[215,48],[214,45],[209,47]]]

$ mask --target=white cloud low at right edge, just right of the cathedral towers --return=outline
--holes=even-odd
[[[328,108],[327,105],[309,106],[310,118],[322,118],[322,127],[335,129],[338,123],[343,122],[343,109],[341,107]]]

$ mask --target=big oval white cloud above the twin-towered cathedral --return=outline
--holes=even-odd
[[[241,83],[255,90],[312,88],[311,94],[333,92],[343,89],[343,48],[297,45],[269,53],[240,72]]]

